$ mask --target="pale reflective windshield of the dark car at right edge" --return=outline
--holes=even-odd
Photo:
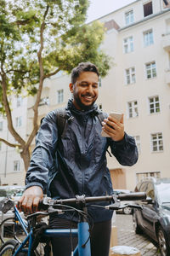
[[[158,201],[162,203],[170,203],[170,183],[156,184],[158,191]]]

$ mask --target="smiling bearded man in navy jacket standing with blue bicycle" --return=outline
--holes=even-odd
[[[133,166],[138,160],[137,147],[133,137],[124,132],[123,119],[119,122],[109,116],[101,126],[99,110],[94,105],[99,94],[98,83],[97,67],[90,62],[80,63],[71,73],[69,87],[73,97],[65,108],[71,119],[66,124],[65,135],[58,134],[55,111],[42,120],[26,174],[26,191],[20,199],[24,212],[37,211],[44,193],[57,198],[111,195],[111,177],[105,157],[108,147],[123,166]],[[110,137],[101,137],[102,129]],[[88,207],[88,213],[94,221],[92,256],[108,256],[112,212]],[[67,212],[59,216],[53,214],[49,224],[69,228],[76,227],[77,221],[77,214]],[[75,246],[76,241],[73,243]],[[54,238],[52,244],[54,255],[55,252],[61,256],[71,255],[70,238]]]

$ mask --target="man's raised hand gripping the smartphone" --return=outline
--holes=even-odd
[[[109,116],[107,119],[104,119],[102,125],[102,130],[105,131],[112,140],[116,142],[122,141],[124,137],[123,115],[120,121]]]

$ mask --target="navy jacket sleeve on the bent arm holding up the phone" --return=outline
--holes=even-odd
[[[122,141],[115,142],[111,138],[108,140],[111,153],[122,166],[133,166],[137,162],[139,154],[133,137],[128,136],[125,132]]]

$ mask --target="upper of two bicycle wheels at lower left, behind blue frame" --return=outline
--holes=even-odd
[[[24,222],[26,220],[24,219]],[[25,231],[23,230],[19,221],[14,220],[14,217],[3,219],[0,224],[0,240],[4,243],[12,238],[17,241],[23,241],[26,237]]]

